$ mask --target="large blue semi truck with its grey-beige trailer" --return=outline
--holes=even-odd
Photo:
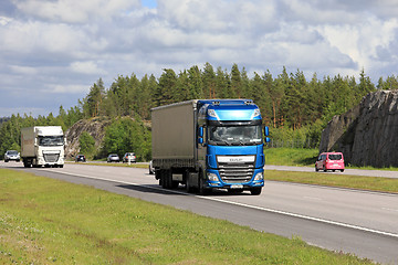
[[[250,99],[193,99],[151,109],[153,167],[165,189],[188,192],[264,186],[264,139],[259,107]],[[265,138],[263,139],[263,135]]]

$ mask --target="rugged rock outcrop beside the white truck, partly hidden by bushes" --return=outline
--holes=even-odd
[[[105,135],[105,128],[111,124],[109,119],[92,118],[82,119],[74,124],[66,132],[67,146],[65,148],[66,158],[73,158],[80,152],[78,137],[83,131],[87,131],[95,140],[98,148]]]

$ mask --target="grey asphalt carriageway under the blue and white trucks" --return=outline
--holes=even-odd
[[[300,236],[327,250],[398,264],[396,194],[266,181],[258,197],[249,192],[231,195],[223,191],[201,197],[187,194],[182,187],[161,189],[147,169],[75,163],[67,163],[63,169],[24,169],[22,163],[14,162],[0,162],[0,167],[88,184],[263,232]]]

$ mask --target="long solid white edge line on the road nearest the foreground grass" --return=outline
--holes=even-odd
[[[54,170],[51,170],[51,169],[41,169],[41,170],[46,170],[46,171],[50,171],[50,172],[54,172]],[[231,204],[231,205],[244,206],[244,208],[260,210],[260,211],[264,211],[264,212],[277,213],[277,214],[282,214],[282,215],[286,215],[286,216],[298,218],[298,219],[303,219],[303,220],[315,221],[315,222],[320,222],[320,223],[326,223],[326,224],[332,224],[332,225],[336,225],[336,226],[342,226],[342,227],[347,227],[347,229],[353,229],[353,230],[358,230],[358,231],[363,231],[363,232],[369,232],[369,233],[374,233],[374,234],[386,235],[386,236],[391,236],[391,237],[398,239],[398,234],[396,234],[396,233],[368,229],[368,227],[364,227],[364,226],[359,226],[359,225],[355,225],[355,224],[347,224],[347,223],[342,223],[342,222],[337,222],[337,221],[331,221],[331,220],[321,219],[321,218],[313,218],[313,216],[307,216],[307,215],[303,215],[303,214],[291,213],[291,212],[285,212],[285,211],[269,209],[269,208],[255,206],[255,205],[250,205],[250,204],[240,203],[240,202],[226,201],[226,200],[218,199],[218,198],[196,195],[196,194],[190,194],[190,193],[180,192],[180,191],[176,191],[176,190],[165,190],[163,188],[157,188],[157,187],[146,186],[146,184],[138,184],[138,183],[127,182],[127,181],[122,181],[122,180],[91,177],[91,176],[69,173],[69,172],[62,172],[62,171],[55,171],[55,172],[56,173],[69,174],[69,176],[73,176],[73,177],[81,177],[81,178],[87,178],[87,179],[98,179],[98,180],[105,180],[105,181],[111,181],[111,182],[118,182],[118,183],[124,183],[124,184],[145,187],[145,188],[148,188],[148,189],[172,192],[172,193],[176,193],[176,194],[195,195],[195,197],[198,197],[198,198],[201,198],[201,199],[205,199],[205,200],[209,200],[209,201],[217,201],[217,202],[228,203],[228,204]]]

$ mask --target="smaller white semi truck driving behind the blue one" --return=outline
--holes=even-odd
[[[21,159],[25,168],[64,166],[65,138],[61,126],[21,129]]]

